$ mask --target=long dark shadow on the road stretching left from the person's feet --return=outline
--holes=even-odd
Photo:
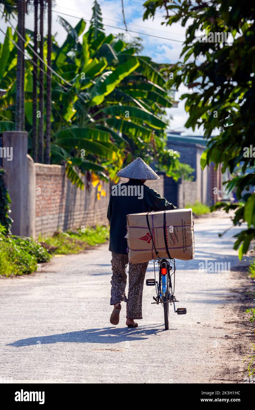
[[[160,327],[159,327],[160,326]],[[163,332],[165,329],[162,325],[156,324],[154,328],[151,326],[139,326],[139,328],[95,328],[80,330],[78,332],[61,333],[59,335],[36,336],[28,337],[27,339],[19,339],[16,342],[9,343],[7,346],[31,346],[40,344],[52,343],[120,343],[133,342],[134,340],[148,339],[150,335],[156,335]],[[177,329],[169,329],[177,330]]]

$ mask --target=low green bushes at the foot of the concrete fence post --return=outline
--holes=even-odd
[[[37,264],[50,260],[50,254],[31,238],[6,236],[0,224],[0,275],[23,275],[36,271]]]

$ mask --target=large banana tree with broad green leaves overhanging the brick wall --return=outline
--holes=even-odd
[[[109,177],[114,178],[124,158],[130,160],[132,146],[148,148],[153,141],[155,147],[158,134],[162,136],[167,126],[162,120],[165,108],[172,103],[168,91],[163,88],[166,82],[158,73],[158,65],[148,57],[135,56],[135,50],[123,41],[114,42],[114,36],[106,36],[102,25],[95,24],[95,16],[92,21],[80,42],[84,22],[81,20],[72,28],[61,19],[68,36],[63,46],[56,50],[54,67],[73,87],[53,89],[54,106],[59,117],[66,121],[65,126],[63,121],[59,122],[53,136],[54,160],[57,160],[58,146],[65,153],[72,152],[69,161],[80,170],[89,169],[94,162],[101,164]],[[97,32],[93,34],[95,26]],[[60,102],[58,107],[55,101]],[[98,132],[96,144],[91,138],[92,130]],[[99,151],[98,144],[108,150]],[[82,147],[89,163],[80,157]],[[58,153],[60,155],[60,150]],[[63,155],[63,150],[61,153]],[[177,160],[167,155],[169,164]]]

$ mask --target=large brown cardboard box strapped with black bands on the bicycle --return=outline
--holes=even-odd
[[[171,257],[181,260],[194,258],[192,209],[165,211],[165,226],[164,211],[129,214],[126,216],[126,221],[129,262],[141,263],[156,257],[168,257],[165,237]]]

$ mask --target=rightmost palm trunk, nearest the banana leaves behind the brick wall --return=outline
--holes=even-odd
[[[52,0],[48,0],[48,36],[47,36],[47,64],[51,67],[51,22],[52,22]],[[50,131],[51,131],[51,71],[47,68],[47,96],[46,96],[46,147],[45,164],[50,164]]]

